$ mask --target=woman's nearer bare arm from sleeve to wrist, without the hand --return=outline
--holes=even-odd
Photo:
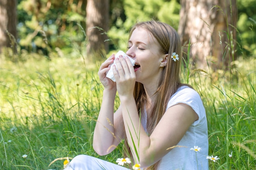
[[[132,99],[121,99],[122,112],[128,143],[132,152],[138,152],[141,167],[148,167],[159,161],[185,135],[189,126],[198,119],[195,111],[186,104],[177,104],[167,109],[152,134],[148,137],[139,122]],[[157,114],[157,113],[155,113]],[[134,128],[133,128],[134,127]],[[133,143],[136,149],[133,147]],[[136,155],[134,154],[136,158]]]

